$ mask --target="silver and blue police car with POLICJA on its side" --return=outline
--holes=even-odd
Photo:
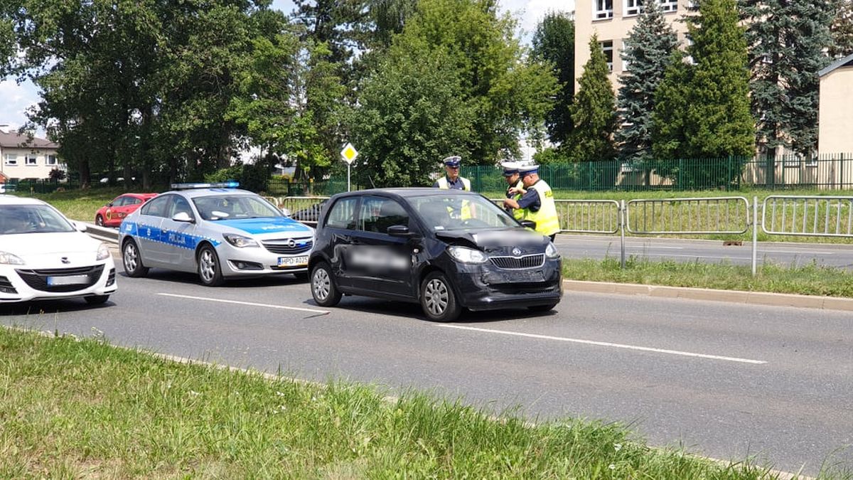
[[[198,272],[201,283],[293,273],[307,278],[314,229],[287,218],[262,196],[224,184],[172,184],[119,227],[125,272]]]

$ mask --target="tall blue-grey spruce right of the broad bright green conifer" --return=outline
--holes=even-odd
[[[817,146],[817,72],[829,63],[836,0],[740,0],[748,25],[757,141],[808,153]]]

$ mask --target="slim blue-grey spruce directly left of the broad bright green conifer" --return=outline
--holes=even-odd
[[[623,161],[639,162],[652,154],[654,92],[664,79],[678,37],[664,20],[657,0],[646,0],[636,25],[625,38],[622,60],[628,73],[622,75],[618,108],[622,128],[616,139]]]

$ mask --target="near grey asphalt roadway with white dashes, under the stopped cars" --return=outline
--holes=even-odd
[[[120,266],[119,266],[120,269]],[[467,313],[345,297],[316,307],[289,277],[210,289],[194,275],[119,275],[102,307],[2,306],[0,322],[198,360],[464,396],[493,412],[631,424],[655,445],[853,469],[850,313],[566,292],[557,311]],[[840,450],[839,450],[840,449]]]

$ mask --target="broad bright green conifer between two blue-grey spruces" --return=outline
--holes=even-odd
[[[689,16],[688,61],[673,61],[655,95],[653,151],[664,158],[752,155],[746,36],[735,0],[702,0]]]

